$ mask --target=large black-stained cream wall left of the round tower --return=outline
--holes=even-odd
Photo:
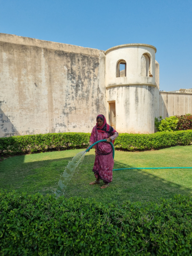
[[[105,105],[103,51],[0,34],[0,137],[90,132]]]

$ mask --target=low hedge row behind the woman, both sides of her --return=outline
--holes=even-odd
[[[46,151],[49,149],[86,148],[89,133],[36,134],[0,138],[0,152],[7,155]],[[192,130],[157,132],[155,134],[119,134],[114,147],[129,151],[148,150],[174,145],[190,145]]]

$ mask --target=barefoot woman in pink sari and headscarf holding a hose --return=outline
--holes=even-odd
[[[96,177],[96,181],[89,183],[90,185],[100,184],[100,179],[105,183],[101,186],[101,189],[105,189],[109,186],[109,183],[113,178],[113,150],[110,142],[114,143],[116,137],[118,137],[118,132],[116,132],[113,127],[107,124],[105,116],[97,116],[96,126],[93,127],[90,136],[90,145],[98,140],[107,140],[106,142],[97,143],[94,148],[96,152],[95,163],[93,166],[93,172]]]

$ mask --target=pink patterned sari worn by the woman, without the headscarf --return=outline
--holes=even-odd
[[[98,132],[97,127],[94,126],[91,132],[90,141],[95,143],[98,140],[104,140],[109,138],[113,133]],[[103,180],[105,183],[109,183],[113,179],[113,151],[110,143],[100,142],[95,145],[96,158],[93,166],[93,172],[96,178]]]

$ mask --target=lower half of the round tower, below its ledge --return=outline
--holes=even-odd
[[[115,101],[116,131],[154,133],[154,87],[132,85],[107,88],[108,101]]]

